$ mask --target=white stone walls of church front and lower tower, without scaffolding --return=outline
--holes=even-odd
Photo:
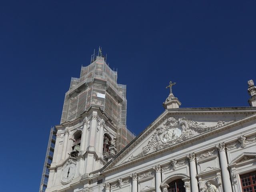
[[[100,108],[56,126],[46,192],[168,192],[174,183],[185,192],[242,192],[240,176],[256,171],[256,107],[179,108],[172,91],[169,97],[166,110],[118,154],[117,128]]]

